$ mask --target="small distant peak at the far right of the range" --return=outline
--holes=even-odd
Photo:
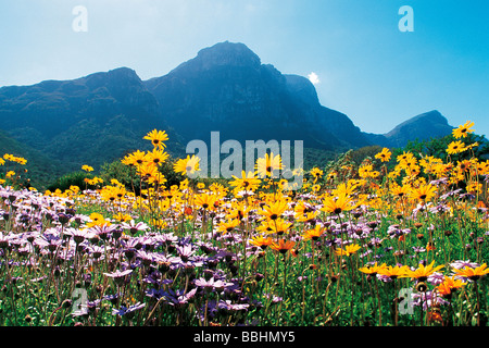
[[[388,147],[404,147],[410,140],[427,140],[452,133],[453,127],[437,110],[414,116],[386,134],[368,134],[365,137],[373,144]]]

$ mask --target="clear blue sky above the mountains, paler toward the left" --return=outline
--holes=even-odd
[[[72,28],[76,5],[87,32]],[[403,5],[414,32],[399,30]],[[314,73],[322,104],[364,132],[437,109],[489,135],[487,0],[0,0],[0,86],[120,66],[148,79],[225,40]]]

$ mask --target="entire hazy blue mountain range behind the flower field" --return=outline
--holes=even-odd
[[[228,41],[147,80],[118,67],[72,80],[2,87],[0,128],[0,145],[2,139],[9,144],[0,152],[20,149],[21,156],[38,159],[30,163],[37,165],[34,172],[45,171],[45,179],[83,164],[98,170],[129,151],[150,149],[142,137],[154,128],[168,133],[174,157],[185,156],[184,145],[192,139],[209,144],[211,132],[218,130],[221,142],[303,140],[313,165],[349,149],[398,147],[452,129],[431,111],[384,135],[363,133],[348,115],[322,105],[308,78],[283,74],[246,45]]]

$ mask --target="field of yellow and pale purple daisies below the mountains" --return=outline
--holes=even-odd
[[[476,326],[488,322],[489,162],[383,149],[274,177],[280,156],[228,181],[173,164],[165,132],[122,159],[137,179],[21,188],[0,160],[2,326]],[[388,165],[391,163],[391,165]],[[93,169],[88,164],[84,171]]]

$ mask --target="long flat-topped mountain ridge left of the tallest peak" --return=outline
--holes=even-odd
[[[66,172],[83,164],[98,166],[148,146],[142,137],[167,126],[158,110],[153,95],[127,67],[0,88],[0,127],[59,160]]]

